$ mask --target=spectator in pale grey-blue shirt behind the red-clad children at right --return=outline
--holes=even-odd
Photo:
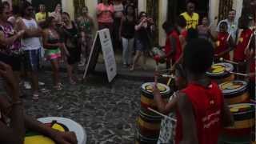
[[[220,31],[221,22],[227,23],[227,31],[231,34],[234,42],[237,42],[237,34],[238,34],[238,22],[235,21],[236,10],[230,10],[228,18],[218,22],[217,31]]]

